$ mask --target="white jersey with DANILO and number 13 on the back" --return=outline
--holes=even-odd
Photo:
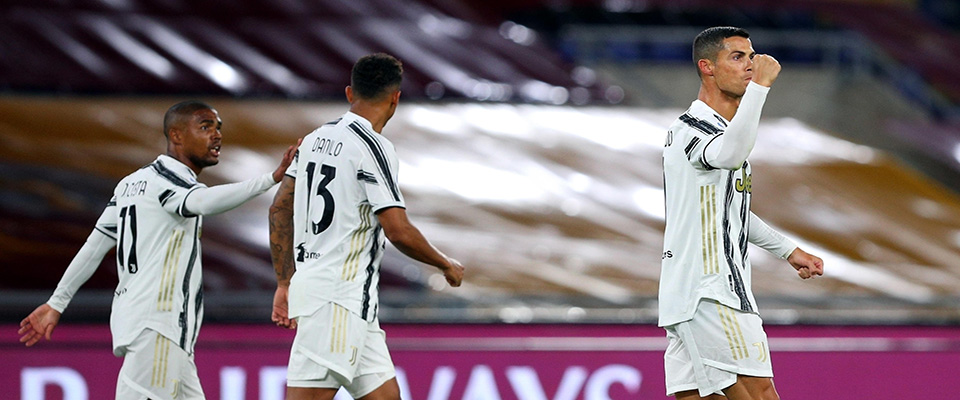
[[[303,139],[287,169],[296,179],[290,317],[326,302],[376,317],[385,245],[376,212],[404,207],[398,166],[393,144],[351,112]]]

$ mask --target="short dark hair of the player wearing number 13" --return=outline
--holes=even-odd
[[[400,60],[389,54],[375,53],[361,57],[353,65],[350,87],[360,98],[376,100],[389,90],[399,89],[402,79]]]

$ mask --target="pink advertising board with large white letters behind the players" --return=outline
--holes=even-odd
[[[113,398],[106,326],[60,326],[24,348],[0,325],[0,399]],[[663,331],[647,325],[385,325],[409,400],[666,399]],[[952,398],[960,328],[769,326],[783,398]],[[197,366],[208,399],[283,398],[292,332],[208,325]],[[338,396],[338,399],[349,397]]]

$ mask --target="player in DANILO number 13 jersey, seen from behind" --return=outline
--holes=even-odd
[[[357,399],[400,399],[377,318],[384,236],[439,268],[451,286],[463,279],[463,266],[407,219],[396,150],[381,135],[400,101],[402,73],[400,61],[382,53],[354,64],[350,111],[303,139],[270,208],[272,319],[297,329],[287,399],[329,400],[340,387]]]

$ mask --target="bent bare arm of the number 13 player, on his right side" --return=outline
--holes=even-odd
[[[463,281],[463,265],[433,247],[407,218],[407,210],[400,207],[387,208],[377,214],[377,219],[383,226],[387,239],[397,250],[414,260],[439,268],[450,286],[460,286]]]

